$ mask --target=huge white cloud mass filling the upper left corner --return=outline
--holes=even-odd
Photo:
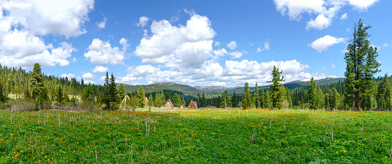
[[[67,1],[18,0],[1,2],[0,58],[10,67],[32,68],[68,66],[72,44],[60,46],[46,44],[44,35],[61,35],[65,38],[79,36],[87,14],[94,9],[93,0]],[[5,15],[3,13],[6,13]],[[61,21],[59,21],[61,20]],[[38,23],[39,22],[39,23]]]

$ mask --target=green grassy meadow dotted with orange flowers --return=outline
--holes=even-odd
[[[0,111],[0,164],[391,164],[392,113]]]

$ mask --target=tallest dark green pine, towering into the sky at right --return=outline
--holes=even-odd
[[[346,62],[346,71],[344,76],[344,101],[351,106],[354,105],[354,110],[359,111],[361,101],[364,98],[370,98],[372,91],[372,77],[375,73],[381,71],[378,67],[381,65],[377,62],[376,57],[377,47],[373,49],[370,46],[368,37],[370,36],[366,30],[371,28],[370,25],[365,26],[360,19],[358,23],[354,24],[354,32],[347,46],[347,51],[344,55]],[[362,105],[371,102],[363,102]],[[363,106],[365,107],[365,106]]]

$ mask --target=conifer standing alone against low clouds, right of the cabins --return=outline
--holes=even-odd
[[[286,99],[286,91],[284,90],[283,85],[280,83],[283,80],[284,76],[280,78],[280,74],[282,74],[282,71],[279,71],[279,68],[276,68],[276,66],[273,66],[271,75],[272,75],[272,80],[267,81],[267,83],[272,83],[271,85],[271,102],[272,102],[272,107],[273,108],[278,108],[281,109],[283,107],[283,101]]]

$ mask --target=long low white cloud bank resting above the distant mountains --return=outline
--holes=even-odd
[[[146,75],[148,83],[153,82],[177,82],[212,85],[244,85],[245,82],[267,85],[272,78],[272,67],[276,66],[282,70],[287,82],[294,80],[310,79],[312,76],[325,78],[325,74],[310,74],[308,65],[296,60],[270,61],[258,63],[257,61],[226,61],[222,67],[219,63],[206,62],[201,68],[191,70],[159,70]],[[195,73],[197,72],[197,73]],[[136,79],[136,76],[129,76]],[[135,81],[132,81],[135,82]]]

